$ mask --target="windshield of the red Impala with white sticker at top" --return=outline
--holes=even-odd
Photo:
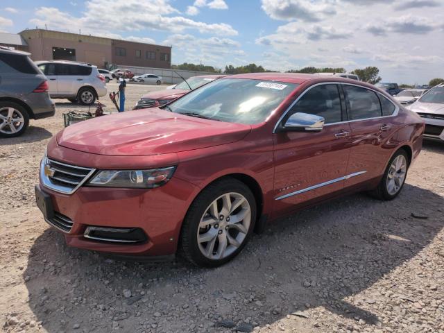
[[[241,78],[214,80],[169,104],[168,109],[230,123],[260,123],[297,86]]]

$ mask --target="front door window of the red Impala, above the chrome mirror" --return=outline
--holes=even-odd
[[[341,121],[341,97],[337,85],[318,85],[309,89],[300,100],[293,105],[291,112],[315,114],[323,117],[325,123],[339,123]]]

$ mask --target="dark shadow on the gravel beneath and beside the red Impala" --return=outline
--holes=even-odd
[[[121,332],[214,332],[226,330],[215,326],[223,320],[264,327],[307,307],[380,325],[376,314],[345,298],[364,291],[355,304],[376,309],[377,296],[365,290],[409,259],[427,259],[420,252],[443,228],[443,207],[443,197],[411,185],[391,202],[341,198],[276,221],[237,259],[212,270],[180,259],[107,259],[67,248],[48,229],[35,239],[24,272],[29,303],[48,332],[74,325],[84,332],[110,332],[112,325]],[[315,330],[305,327],[306,318],[293,318],[304,332]]]

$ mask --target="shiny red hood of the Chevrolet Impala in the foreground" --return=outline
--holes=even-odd
[[[159,108],[82,121],[57,135],[60,146],[100,155],[159,155],[229,144],[249,125],[189,117]]]

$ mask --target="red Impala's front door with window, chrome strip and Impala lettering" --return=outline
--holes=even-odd
[[[274,134],[275,213],[291,212],[300,203],[341,191],[350,154],[350,125],[339,86],[308,88],[284,117],[296,112],[325,119],[320,132]]]

